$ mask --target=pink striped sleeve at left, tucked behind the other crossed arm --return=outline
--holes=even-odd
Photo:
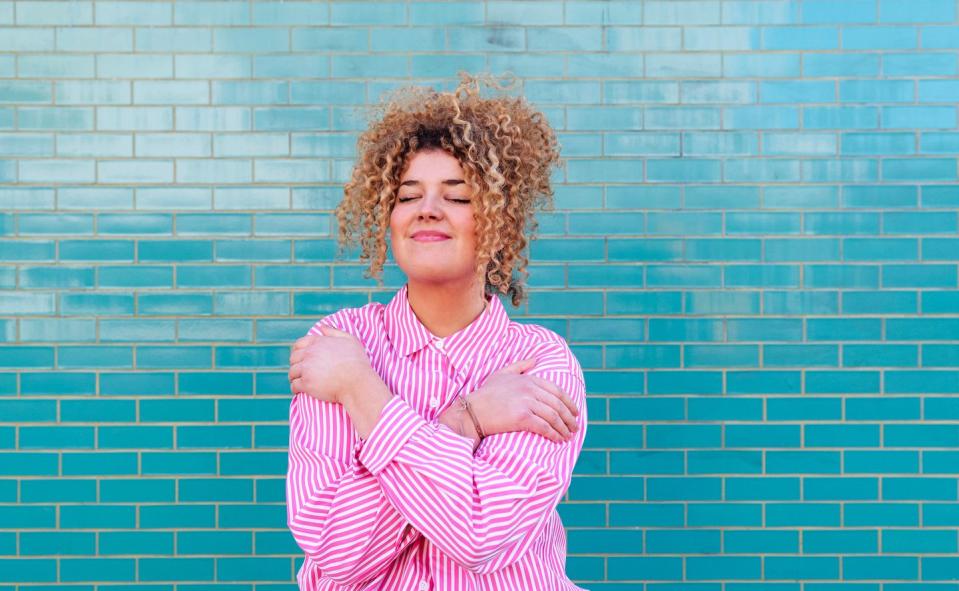
[[[323,322],[343,326],[335,318]],[[319,334],[318,327],[310,334]],[[342,405],[305,393],[293,397],[287,525],[322,574],[341,585],[375,578],[422,535],[358,461],[363,445]]]

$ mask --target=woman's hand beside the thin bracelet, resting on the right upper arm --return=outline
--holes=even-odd
[[[507,365],[467,395],[485,435],[529,431],[563,442],[578,429],[579,409],[569,394],[549,380],[523,373],[535,364],[534,359],[523,359]],[[472,426],[468,417],[466,424]]]

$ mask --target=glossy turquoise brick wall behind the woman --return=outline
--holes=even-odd
[[[460,69],[567,158],[570,576],[956,591],[957,12],[0,1],[0,591],[295,589],[287,348],[403,282],[333,256],[356,107]]]

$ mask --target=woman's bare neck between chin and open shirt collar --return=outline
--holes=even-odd
[[[443,338],[462,330],[476,320],[486,309],[483,283],[472,280],[468,284],[430,284],[410,280],[406,299],[431,333]]]

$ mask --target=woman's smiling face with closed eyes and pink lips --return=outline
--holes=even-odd
[[[390,216],[397,264],[411,281],[468,283],[476,271],[472,190],[459,161],[441,150],[407,162]]]

